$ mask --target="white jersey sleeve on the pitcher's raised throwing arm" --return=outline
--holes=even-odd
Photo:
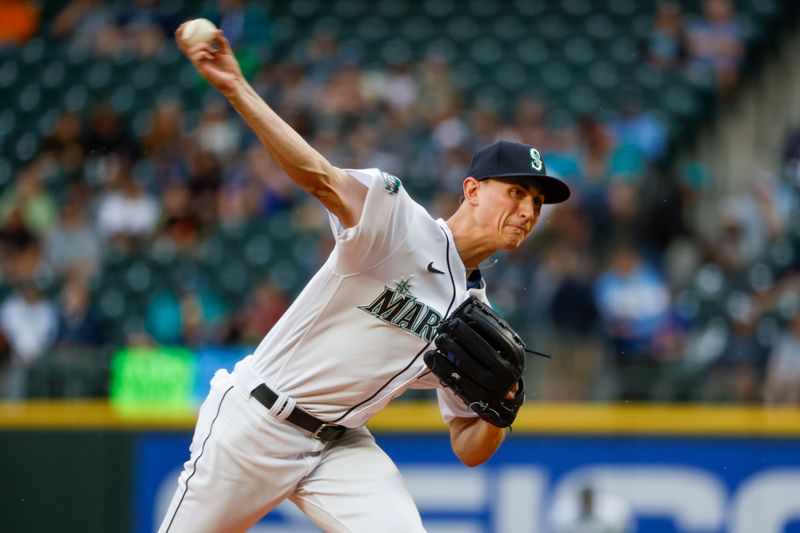
[[[407,238],[417,204],[396,176],[378,169],[347,170],[367,187],[358,224],[345,228],[328,213],[336,238],[336,272],[368,270],[389,257]]]

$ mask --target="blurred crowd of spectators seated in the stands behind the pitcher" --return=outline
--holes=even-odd
[[[731,1],[703,5],[689,24],[678,4],[659,3],[641,60],[711,75],[729,91],[744,34]],[[505,113],[471,101],[436,55],[367,70],[322,31],[302,57],[260,61],[265,10],[222,0],[206,11],[241,51],[256,91],[312,146],[334,165],[396,174],[435,216],[455,209],[472,154],[500,138],[537,146],[570,184],[572,199],[545,211],[531,243],[484,266],[494,305],[555,356],[532,362],[532,396],[800,403],[800,250],[790,224],[800,134],[787,134],[751,189],[710,202],[705,192],[724,177],[675,164],[669,125],[635,92],[614,113],[571,122],[550,120],[532,97]],[[72,0],[38,31],[98,56],[127,47],[146,58],[174,46],[176,25],[157,0]],[[281,216],[316,238],[297,265],[307,277],[332,246],[324,214],[210,91],[201,109],[153,102],[136,131],[108,102],[62,112],[0,189],[2,394],[24,396],[28,369],[47,354],[119,347],[96,297],[109,255],[192,260],[226,228]],[[780,271],[724,300],[713,292],[781,246]],[[718,295],[719,320],[701,320],[703,291]],[[267,272],[246,292],[231,302],[202,277],[183,280],[149,298],[121,342],[255,345],[293,294]]]

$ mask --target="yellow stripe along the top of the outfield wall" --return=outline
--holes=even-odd
[[[115,408],[103,401],[0,403],[0,430],[175,430],[193,409]],[[375,415],[376,431],[440,432],[434,402],[398,402]],[[565,435],[787,436],[800,438],[800,409],[690,405],[528,404],[515,432]]]

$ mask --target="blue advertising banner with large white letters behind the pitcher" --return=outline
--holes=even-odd
[[[470,469],[445,433],[376,437],[431,533],[577,531],[570,527],[587,505],[609,528],[622,528],[591,531],[800,533],[796,438],[512,433],[495,457]],[[138,437],[135,532],[156,529],[189,441],[188,433]],[[319,530],[286,503],[253,531]]]

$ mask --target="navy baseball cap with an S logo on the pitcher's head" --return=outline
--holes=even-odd
[[[569,198],[567,184],[547,175],[539,150],[527,144],[497,141],[478,150],[472,158],[467,177],[522,178],[519,183],[535,183],[544,194],[544,203],[557,204]],[[529,181],[530,180],[530,181]]]

